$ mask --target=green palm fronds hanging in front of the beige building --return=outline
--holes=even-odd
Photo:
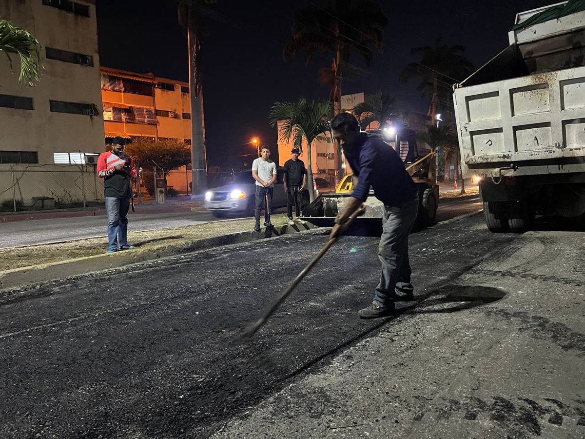
[[[8,57],[12,68],[10,54],[20,57],[20,75],[18,83],[32,87],[39,81],[40,44],[26,29],[18,28],[11,22],[0,20],[0,52]]]

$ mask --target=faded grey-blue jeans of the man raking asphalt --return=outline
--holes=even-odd
[[[412,270],[408,259],[408,235],[417,219],[417,212],[418,196],[400,206],[384,206],[382,236],[378,246],[382,273],[374,297],[383,305],[412,294],[414,290],[410,282]]]

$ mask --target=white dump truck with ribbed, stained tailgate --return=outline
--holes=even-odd
[[[585,2],[516,15],[510,45],[453,86],[464,177],[492,232],[585,214]]]

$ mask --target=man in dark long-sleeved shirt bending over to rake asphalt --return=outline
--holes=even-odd
[[[369,195],[384,203],[382,236],[378,258],[382,263],[380,282],[370,306],[360,310],[360,318],[386,317],[394,314],[394,302],[412,300],[408,235],[418,211],[417,187],[398,153],[377,135],[360,132],[357,119],[340,113],[331,121],[333,138],[353,170],[353,193],[346,208],[335,218],[331,238],[339,234],[342,224]]]

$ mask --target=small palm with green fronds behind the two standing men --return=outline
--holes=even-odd
[[[317,136],[329,131],[332,105],[329,101],[308,101],[300,98],[295,102],[276,102],[270,109],[270,126],[281,125],[280,139],[289,142],[294,138],[295,148],[302,153],[302,140],[307,142],[307,183],[309,200],[315,200],[313,190],[313,173],[311,166],[311,146]]]

